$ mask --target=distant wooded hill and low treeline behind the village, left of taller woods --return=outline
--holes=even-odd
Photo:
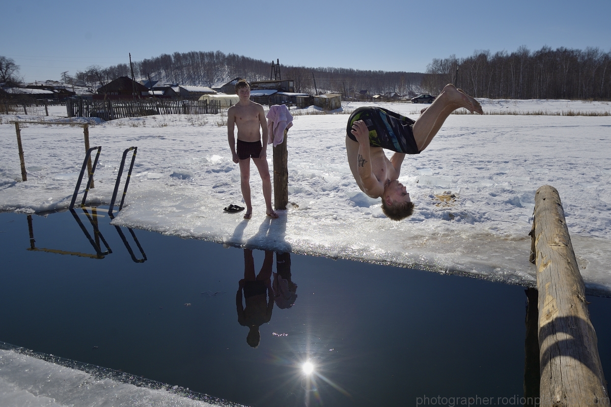
[[[185,85],[208,87],[222,85],[235,77],[249,81],[266,81],[271,75],[271,61],[252,59],[236,54],[216,52],[174,52],[134,62],[134,77],[137,81],[173,82]],[[368,90],[370,95],[397,92],[419,92],[423,73],[364,71],[346,68],[307,68],[280,64],[283,79],[295,81],[295,92],[310,95],[337,92],[346,95]],[[79,71],[75,79],[95,86],[108,83],[119,76],[131,76],[127,63],[113,67],[90,67]]]

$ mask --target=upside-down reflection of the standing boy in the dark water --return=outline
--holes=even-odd
[[[271,320],[271,311],[274,308],[274,291],[271,287],[273,262],[274,252],[266,250],[261,271],[255,277],[252,250],[244,249],[244,278],[240,280],[240,288],[238,288],[235,301],[238,307],[238,322],[250,329],[246,342],[253,348],[256,348],[261,340],[259,326]],[[244,291],[246,307],[242,306],[242,291]],[[266,297],[269,298],[267,301]]]

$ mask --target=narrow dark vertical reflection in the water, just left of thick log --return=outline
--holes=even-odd
[[[539,404],[539,384],[541,381],[539,367],[539,338],[537,310],[538,296],[535,288],[526,292],[526,339],[524,340],[524,406]]]

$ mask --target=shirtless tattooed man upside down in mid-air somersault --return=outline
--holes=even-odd
[[[359,107],[348,119],[346,153],[360,190],[382,198],[382,211],[392,220],[412,214],[414,204],[398,181],[405,154],[420,154],[454,110],[464,107],[483,114],[480,104],[454,85],[446,85],[418,120],[380,107]],[[390,160],[383,149],[395,151]]]

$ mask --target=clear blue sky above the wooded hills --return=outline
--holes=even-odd
[[[276,4],[276,7],[272,5]],[[233,52],[306,67],[419,71],[475,49],[611,50],[611,0],[2,2],[0,55],[26,81],[163,53]]]

